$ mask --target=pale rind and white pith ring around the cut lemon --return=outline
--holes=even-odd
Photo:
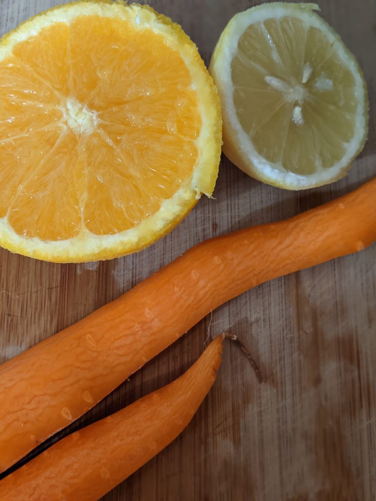
[[[223,151],[241,170],[268,184],[285,189],[308,189],[333,182],[343,177],[354,157],[362,150],[368,123],[367,89],[359,65],[354,56],[344,46],[339,35],[317,14],[315,4],[272,3],[254,7],[235,15],[229,22],[215,48],[209,71],[217,85],[223,113]],[[253,147],[248,135],[242,129],[236,115],[233,101],[231,61],[245,30],[254,23],[282,16],[297,17],[309,22],[327,35],[339,57],[345,61],[355,79],[359,93],[355,118],[355,135],[342,159],[332,167],[310,175],[299,175],[287,171],[281,164],[273,164],[262,157]]]

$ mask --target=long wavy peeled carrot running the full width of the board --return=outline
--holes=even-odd
[[[222,303],[372,243],[375,199],[376,178],[291,219],[204,241],[0,366],[0,468],[80,417]]]

